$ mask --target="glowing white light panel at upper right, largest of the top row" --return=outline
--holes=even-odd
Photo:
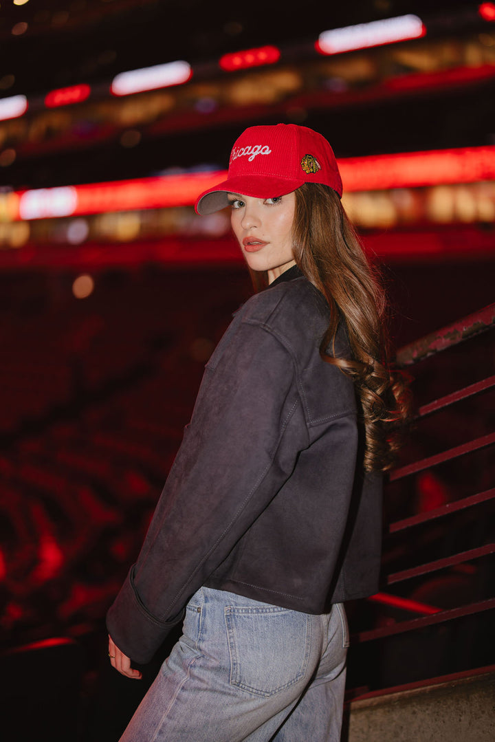
[[[344,51],[393,44],[406,39],[419,39],[425,33],[426,27],[422,19],[411,14],[324,31],[318,37],[315,46],[321,54],[339,54]]]

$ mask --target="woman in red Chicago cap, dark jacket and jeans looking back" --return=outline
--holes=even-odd
[[[136,565],[108,613],[112,665],[171,651],[122,741],[340,738],[341,602],[376,591],[381,471],[404,417],[384,301],[329,143],[296,125],[235,142],[226,181],[258,292],[205,374]]]

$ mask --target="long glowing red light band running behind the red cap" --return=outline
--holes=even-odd
[[[338,165],[344,191],[382,191],[495,180],[495,145],[465,149],[347,157]],[[191,206],[225,180],[226,171],[90,183],[7,194],[10,219],[42,219],[105,211]]]

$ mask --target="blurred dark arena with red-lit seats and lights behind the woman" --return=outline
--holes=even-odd
[[[416,407],[453,395],[390,478],[350,696],[491,666],[495,3],[2,0],[0,39],[1,661],[25,692],[34,643],[71,715],[37,733],[117,739],[143,692],[105,611],[252,290],[228,215],[192,205],[260,123],[330,140]]]

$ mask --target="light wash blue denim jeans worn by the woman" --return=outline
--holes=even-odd
[[[200,588],[120,742],[338,742],[347,620]]]

